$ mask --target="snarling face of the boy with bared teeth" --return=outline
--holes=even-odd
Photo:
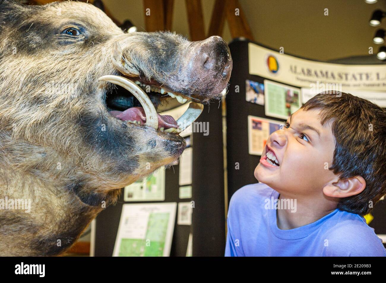
[[[320,124],[319,112],[320,109],[299,109],[282,129],[269,136],[254,172],[256,179],[279,193],[322,193],[320,189],[336,178],[326,169],[332,165],[335,138],[329,122],[324,126]],[[279,166],[267,161],[269,149],[274,152]]]

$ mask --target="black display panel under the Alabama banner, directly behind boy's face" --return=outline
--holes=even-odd
[[[242,186],[258,183],[254,177],[254,170],[261,156],[251,155],[248,152],[248,115],[283,122],[283,120],[266,116],[264,105],[251,103],[245,99],[245,80],[264,83],[263,77],[249,74],[248,42],[234,40],[229,44],[233,60],[229,92],[225,99],[229,201],[232,194]]]

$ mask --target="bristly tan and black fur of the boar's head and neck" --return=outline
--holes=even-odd
[[[64,33],[72,27],[81,34]],[[105,95],[115,86],[98,78],[122,75],[111,59],[115,42],[142,77],[201,101],[220,97],[229,80],[221,64],[219,72],[185,72],[187,50],[198,45],[175,33],[125,33],[86,3],[0,0],[0,199],[30,200],[30,212],[0,202],[0,255],[63,253],[120,188],[185,149],[179,136],[108,113]],[[224,50],[213,56],[230,60]]]

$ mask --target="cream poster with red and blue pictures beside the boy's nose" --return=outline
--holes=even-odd
[[[261,155],[267,139],[274,131],[284,126],[284,122],[248,115],[248,151],[252,155]]]

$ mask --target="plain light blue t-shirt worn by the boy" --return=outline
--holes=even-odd
[[[313,223],[279,229],[276,209],[266,209],[271,197],[279,193],[263,183],[233,194],[225,256],[386,256],[382,240],[355,213],[335,209]]]

